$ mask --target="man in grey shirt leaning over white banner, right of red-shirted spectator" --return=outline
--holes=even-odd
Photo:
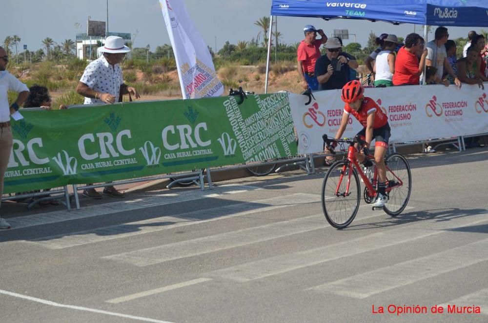
[[[437,27],[434,37],[435,39],[427,42],[426,45],[426,65],[434,66],[437,69],[437,83],[441,82],[442,76],[444,75],[444,70],[446,70],[447,74],[449,74],[454,80],[454,84],[456,84],[458,87],[461,87],[461,81],[459,81],[457,75],[454,74],[451,65],[449,64],[449,61],[447,60],[446,46],[444,46],[444,44],[447,42],[447,39],[449,38],[447,28]]]

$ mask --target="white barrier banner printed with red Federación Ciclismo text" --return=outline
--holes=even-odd
[[[341,123],[344,102],[340,90],[313,93],[315,100],[289,93],[293,122],[299,138],[298,152],[310,154],[323,149],[322,135],[334,137]],[[390,143],[450,138],[488,132],[488,84],[410,85],[366,88],[388,116]],[[353,137],[362,125],[350,117],[343,137]]]

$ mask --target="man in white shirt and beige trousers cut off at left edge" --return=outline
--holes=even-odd
[[[19,110],[19,106],[27,99],[29,89],[17,80],[12,74],[6,71],[8,63],[7,52],[0,47],[0,205],[3,194],[3,179],[7,170],[8,160],[13,145],[12,128],[10,126],[10,115]],[[15,91],[19,95],[14,103],[8,105],[7,91]],[[5,219],[0,217],[0,229],[9,229]]]

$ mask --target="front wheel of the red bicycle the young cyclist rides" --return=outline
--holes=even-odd
[[[345,228],[358,213],[360,200],[361,186],[356,169],[345,161],[333,163],[322,184],[322,210],[327,222],[335,228]]]

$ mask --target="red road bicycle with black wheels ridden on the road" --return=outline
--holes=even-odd
[[[345,152],[344,159],[333,163],[328,169],[322,184],[322,210],[325,219],[335,228],[343,229],[348,226],[358,213],[361,200],[361,185],[359,176],[365,183],[363,198],[366,203],[373,203],[376,197],[378,184],[378,171],[374,167],[373,176],[369,178],[363,172],[357,160],[358,150],[356,143],[363,146],[366,142],[359,138],[345,138],[343,140],[327,139],[322,137],[324,146],[329,149],[330,143],[337,141],[339,148]],[[346,144],[349,147],[346,149]],[[374,156],[369,155],[374,163]],[[412,175],[407,159],[398,153],[386,156],[386,195],[388,202],[383,207],[386,214],[390,216],[399,215],[407,206],[412,190]],[[375,208],[373,207],[373,210]]]

